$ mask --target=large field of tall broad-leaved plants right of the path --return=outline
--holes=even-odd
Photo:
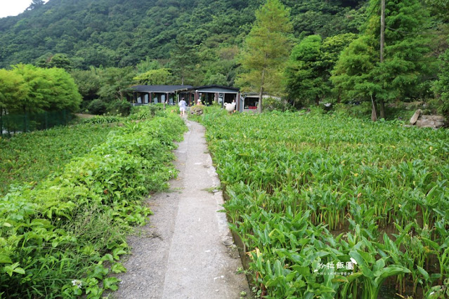
[[[449,295],[448,130],[313,113],[202,121],[258,295]]]

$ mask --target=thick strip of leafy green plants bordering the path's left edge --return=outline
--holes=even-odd
[[[0,298],[101,298],[105,291],[117,290],[113,274],[126,271],[119,261],[129,253],[126,234],[151,213],[143,199],[166,189],[167,180],[176,175],[171,150],[186,126],[177,115],[164,112],[124,121],[109,133],[91,126],[76,127],[77,133],[55,141],[67,153],[58,156],[65,164],[48,166],[54,173],[23,177],[39,183],[12,188],[0,197]],[[64,129],[20,138],[44,142],[44,136],[58,130]],[[103,142],[95,137],[100,134]],[[14,149],[20,138],[3,142]],[[84,150],[70,145],[77,138],[86,138]],[[56,154],[51,142],[45,144],[50,156]],[[30,153],[36,160],[16,153],[17,161],[41,168],[50,164],[44,150]],[[79,157],[70,159],[75,153]],[[14,173],[11,169],[20,168],[13,164],[9,172]]]

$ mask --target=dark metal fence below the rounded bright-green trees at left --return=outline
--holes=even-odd
[[[15,133],[65,126],[73,118],[73,114],[66,110],[30,114],[0,114],[0,135],[11,136]]]

